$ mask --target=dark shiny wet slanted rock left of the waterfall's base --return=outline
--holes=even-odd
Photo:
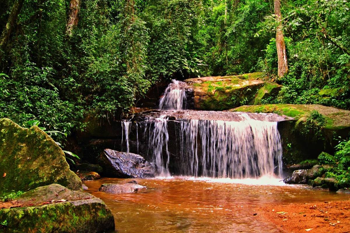
[[[138,154],[105,149],[99,159],[105,176],[146,178],[156,175],[155,166]]]

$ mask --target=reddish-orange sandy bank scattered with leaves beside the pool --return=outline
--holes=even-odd
[[[350,232],[350,200],[255,207],[258,217],[284,232]]]

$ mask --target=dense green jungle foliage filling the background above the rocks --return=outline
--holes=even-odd
[[[21,125],[36,119],[69,134],[84,128],[86,114],[128,111],[159,81],[253,71],[283,85],[268,103],[350,109],[348,1],[281,1],[289,67],[281,78],[273,1],[1,0],[1,6],[0,117]]]

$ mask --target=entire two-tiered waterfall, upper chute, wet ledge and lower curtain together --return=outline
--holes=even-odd
[[[144,128],[140,132],[142,145],[146,146],[141,154],[155,163],[161,176],[282,177],[277,122],[285,118],[276,114],[181,110],[187,88],[186,83],[173,80],[159,105],[168,111],[148,112],[146,118],[135,122],[137,152],[140,127]],[[127,152],[130,126],[131,122],[122,122],[122,145],[125,135]]]

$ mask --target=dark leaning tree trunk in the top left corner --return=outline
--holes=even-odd
[[[2,33],[1,33],[1,37],[0,37],[0,48],[2,48],[2,49],[5,48],[8,40],[9,40],[11,30],[15,26],[18,14],[20,13],[20,11],[22,9],[23,2],[24,2],[24,0],[15,0],[15,2],[13,3],[13,7],[11,9],[10,15],[8,16],[6,26],[3,29]]]

